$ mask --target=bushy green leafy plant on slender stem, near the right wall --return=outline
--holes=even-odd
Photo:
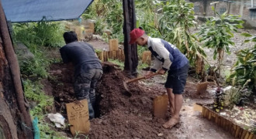
[[[227,15],[227,12],[220,15],[213,7],[212,9],[217,17],[207,19],[206,25],[202,25],[199,31],[199,36],[201,36],[199,40],[200,42],[205,42],[205,47],[214,49],[213,59],[216,59],[218,55],[218,71],[220,75],[224,53],[230,54],[230,45],[234,46],[234,42],[231,40],[234,37],[233,32],[237,32],[237,29],[242,28],[244,21],[238,19],[239,16]]]

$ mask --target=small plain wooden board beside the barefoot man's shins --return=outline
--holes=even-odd
[[[165,118],[168,110],[168,95],[157,96],[154,98],[154,116]]]

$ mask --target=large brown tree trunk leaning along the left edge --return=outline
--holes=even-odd
[[[18,59],[0,2],[0,138],[33,138],[29,108],[25,104]]]

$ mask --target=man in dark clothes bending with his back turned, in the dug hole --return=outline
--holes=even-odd
[[[92,46],[78,42],[75,32],[64,32],[66,45],[60,53],[64,63],[74,65],[74,93],[77,100],[87,99],[90,119],[95,117],[95,86],[102,76],[102,66]]]

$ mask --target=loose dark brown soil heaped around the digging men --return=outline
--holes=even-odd
[[[163,138],[168,130],[161,127],[168,119],[153,116],[154,97],[161,91],[148,89],[140,83],[123,86],[128,75],[111,64],[103,64],[101,80],[96,90],[96,117],[91,120],[90,138]],[[75,100],[71,66],[56,63],[50,67],[53,95],[57,112],[67,117],[65,103]]]

